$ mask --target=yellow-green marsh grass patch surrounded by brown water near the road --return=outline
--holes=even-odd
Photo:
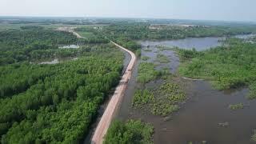
[[[137,90],[133,106],[150,110],[151,114],[166,116],[178,111],[179,104],[186,101],[181,86],[174,82],[174,75],[166,75],[164,82],[152,90]]]

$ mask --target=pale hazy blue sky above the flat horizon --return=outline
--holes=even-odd
[[[256,0],[0,0],[0,16],[173,18],[256,22]]]

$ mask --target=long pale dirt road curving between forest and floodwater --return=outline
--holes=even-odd
[[[92,144],[102,144],[104,135],[106,134],[106,131],[108,130],[112,119],[114,118],[114,114],[118,108],[118,105],[120,104],[120,102],[122,102],[122,98],[124,96],[126,86],[131,77],[132,68],[134,67],[134,63],[136,60],[136,56],[132,51],[127,50],[126,48],[124,48],[122,46],[119,46],[115,42],[111,41],[111,43],[113,43],[115,46],[118,46],[120,49],[128,52],[131,56],[131,59],[130,59],[129,65],[126,68],[125,73],[122,75],[122,78],[121,78],[118,86],[114,90],[114,95],[110,99],[110,102],[109,102],[108,106],[106,107],[106,110],[104,111],[104,114],[102,115],[100,122],[98,123],[98,126],[94,132],[94,135],[93,135],[93,138],[91,141]]]

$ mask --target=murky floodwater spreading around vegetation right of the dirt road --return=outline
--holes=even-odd
[[[183,43],[182,43],[183,42]],[[174,41],[141,42],[142,56],[148,56],[147,62],[155,62],[157,54],[164,54],[170,58],[165,64],[157,63],[156,69],[170,68],[172,73],[178,68],[178,56],[171,50],[158,50],[157,45],[180,46],[196,50],[206,50],[209,47],[220,46],[216,38],[186,38]],[[149,47],[146,47],[149,46]],[[150,49],[150,50],[149,50]],[[157,144],[186,144],[218,143],[218,144],[250,144],[253,130],[256,128],[256,101],[246,99],[246,87],[237,90],[214,90],[210,82],[182,80],[185,84],[186,95],[189,98],[181,109],[169,118],[154,116],[146,110],[134,109],[131,106],[134,91],[141,87],[136,82],[138,63],[130,78],[126,95],[119,107],[117,118],[142,119],[154,126],[154,143]],[[159,81],[150,82],[150,86],[158,86]],[[230,110],[230,104],[242,102],[244,109]],[[166,120],[169,119],[169,120]],[[226,122],[228,126],[219,126]]]

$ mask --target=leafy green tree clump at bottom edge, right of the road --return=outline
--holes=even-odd
[[[104,144],[150,144],[152,142],[153,126],[138,120],[127,122],[114,121],[105,136]]]

